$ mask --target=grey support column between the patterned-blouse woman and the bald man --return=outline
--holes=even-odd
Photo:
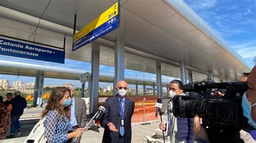
[[[96,113],[98,111],[99,97],[99,47],[93,45],[91,52],[91,86],[90,86],[90,103],[89,112]]]

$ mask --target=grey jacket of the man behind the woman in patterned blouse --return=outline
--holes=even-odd
[[[84,99],[75,97],[75,115],[78,127],[86,125],[86,103]]]

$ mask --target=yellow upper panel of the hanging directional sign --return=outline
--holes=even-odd
[[[112,17],[118,15],[118,3],[112,5],[109,9],[103,12],[99,17],[94,19],[90,24],[86,25],[82,28],[79,32],[77,32],[73,36],[73,42],[76,42],[80,38],[84,37],[84,35],[90,33],[91,31],[95,30],[95,28],[99,27],[100,25],[107,22],[107,20],[111,19]]]

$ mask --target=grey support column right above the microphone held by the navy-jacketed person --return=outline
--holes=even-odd
[[[158,94],[159,98],[163,98],[161,63],[160,62],[156,62],[156,77],[157,77],[157,94]]]

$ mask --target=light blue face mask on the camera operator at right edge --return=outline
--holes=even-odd
[[[252,107],[255,106],[256,103],[252,104],[251,102],[248,101],[246,92],[242,96],[242,111],[243,115],[248,118],[248,124],[256,128],[256,123],[252,118]]]

